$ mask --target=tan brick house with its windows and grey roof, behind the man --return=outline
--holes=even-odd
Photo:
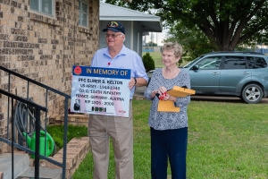
[[[71,67],[90,65],[94,53],[101,47],[100,41],[104,41],[99,32],[112,18],[110,15],[105,18],[105,11],[100,22],[99,0],[0,0],[0,65],[71,94]],[[141,45],[138,45],[141,34],[144,30],[162,31],[160,18],[122,8],[121,12],[126,12],[125,19],[113,18],[130,27],[126,47],[141,54]],[[1,90],[8,90],[8,79],[8,74],[0,71]],[[42,123],[49,123],[51,116],[63,114],[63,97],[47,95],[46,90],[16,77],[11,78],[10,84],[11,93],[43,107],[47,104],[48,115],[41,117]],[[6,124],[10,123],[11,116],[7,116],[6,101],[7,97],[0,94],[0,137],[10,133]],[[0,154],[7,151],[8,146],[0,141]]]

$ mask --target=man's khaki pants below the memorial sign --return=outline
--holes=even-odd
[[[133,122],[130,117],[89,115],[88,135],[94,160],[93,179],[107,179],[109,139],[113,140],[116,179],[133,179]]]

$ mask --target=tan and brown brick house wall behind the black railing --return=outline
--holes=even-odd
[[[0,0],[0,65],[71,94],[72,65],[89,65],[98,49],[99,1],[88,0],[88,28],[78,26],[77,0],[55,0],[54,18],[32,12],[29,1]],[[0,72],[1,89],[7,90],[7,81]],[[12,78],[13,94],[27,98],[26,89],[25,81]],[[29,98],[45,106],[46,91],[29,84]],[[3,95],[0,100],[1,129],[7,103]],[[48,113],[63,114],[63,98],[48,94]]]

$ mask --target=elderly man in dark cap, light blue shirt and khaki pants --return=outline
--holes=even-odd
[[[134,178],[131,99],[135,86],[146,86],[148,77],[141,57],[123,45],[126,37],[121,22],[110,21],[103,31],[108,47],[96,51],[91,66],[131,70],[130,115],[129,117],[89,115],[88,135],[94,160],[94,179],[107,178],[110,138],[113,140],[116,178],[131,179]]]

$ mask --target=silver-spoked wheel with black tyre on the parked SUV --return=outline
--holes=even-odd
[[[242,98],[248,104],[255,104],[262,100],[264,92],[257,84],[249,84],[242,91]]]

